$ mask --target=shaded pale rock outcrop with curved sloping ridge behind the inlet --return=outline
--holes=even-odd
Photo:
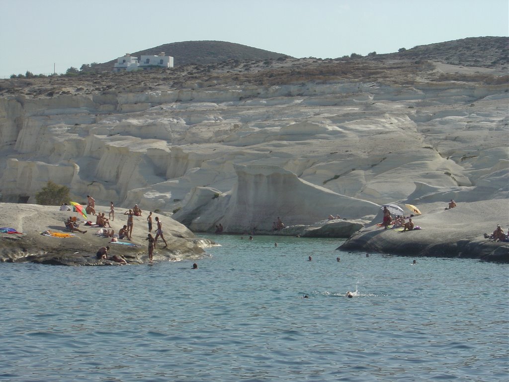
[[[331,213],[353,220],[379,210],[378,204],[336,194],[277,166],[234,167],[237,182],[230,193],[195,189],[174,219],[191,231],[211,231],[221,223],[227,232],[243,233],[271,231],[277,217],[285,225],[312,224]]]

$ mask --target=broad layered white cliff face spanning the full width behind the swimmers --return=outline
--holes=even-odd
[[[469,201],[509,194],[507,84],[193,87],[0,99],[3,201],[35,202],[52,180],[76,201],[181,208],[203,230],[271,226],[274,214],[354,219],[445,189]],[[220,196],[206,205],[210,193]]]

